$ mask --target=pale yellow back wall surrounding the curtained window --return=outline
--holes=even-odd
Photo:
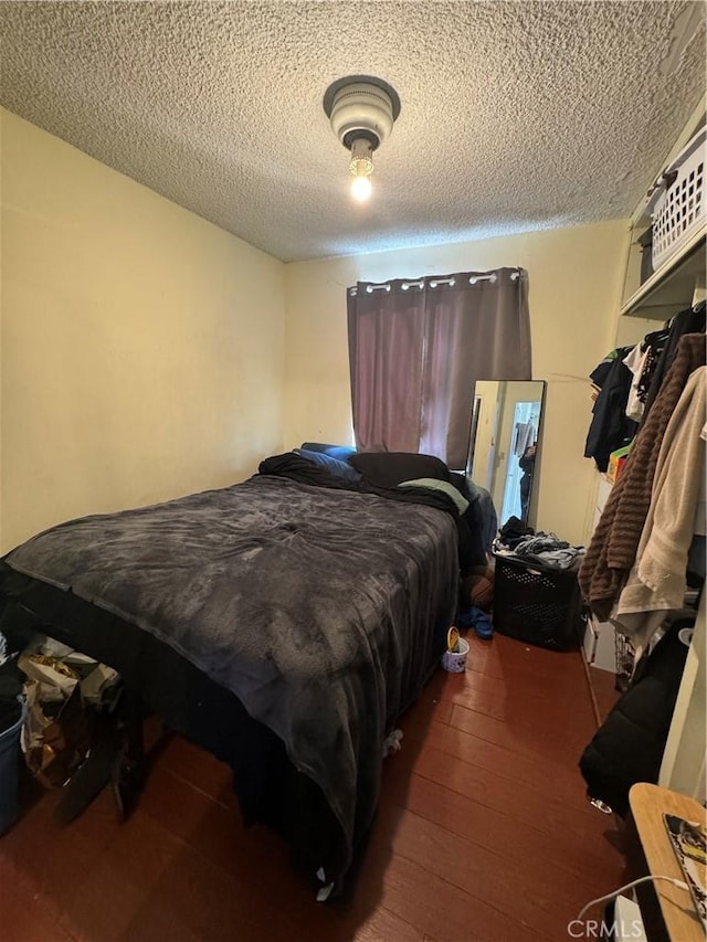
[[[591,531],[595,475],[582,457],[588,373],[613,347],[626,222],[287,266],[285,445],[351,437],[347,285],[519,265],[530,284],[534,379],[547,380],[537,525],[576,542]]]

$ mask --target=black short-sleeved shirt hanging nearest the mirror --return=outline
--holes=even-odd
[[[632,373],[623,360],[632,347],[612,350],[590,373],[600,393],[592,409],[593,417],[584,445],[584,457],[594,458],[600,472],[609,467],[609,455],[627,445],[639,427],[626,416]]]

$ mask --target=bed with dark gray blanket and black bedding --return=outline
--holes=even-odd
[[[289,453],[242,484],[28,540],[0,561],[0,631],[115,667],[336,891],[386,738],[443,649],[468,531],[443,493]]]

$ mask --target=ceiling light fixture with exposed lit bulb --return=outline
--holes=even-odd
[[[388,138],[400,114],[394,88],[371,75],[349,75],[327,88],[324,110],[331,130],[351,152],[351,195],[365,202],[371,194],[373,151]]]

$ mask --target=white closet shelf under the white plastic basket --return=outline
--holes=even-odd
[[[693,303],[695,285],[705,277],[705,237],[701,226],[674,258],[654,272],[621,308],[622,315],[668,320]],[[703,281],[704,284],[704,281]]]

